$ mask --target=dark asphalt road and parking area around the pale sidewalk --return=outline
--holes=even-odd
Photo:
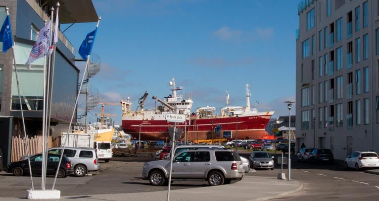
[[[249,156],[247,153],[241,153],[241,155]],[[141,177],[144,162],[149,160],[152,158],[121,157],[114,158],[109,163],[101,162],[100,172],[93,172],[92,176],[58,178],[55,189],[61,190],[62,196],[167,190],[167,186],[152,186],[149,181]],[[275,166],[275,170],[257,170],[246,174],[276,177],[278,173],[280,173],[279,165]],[[286,166],[283,173],[287,176]],[[293,156],[291,179],[303,183],[304,188],[298,193],[276,200],[377,200],[379,197],[379,175],[344,170],[342,164],[339,163],[313,165],[297,162],[296,157]],[[51,189],[53,180],[54,178],[47,179],[46,189]],[[33,183],[34,189],[41,189],[40,177],[34,176]],[[171,189],[203,186],[208,186],[208,183],[206,181],[174,181]],[[10,173],[0,172],[0,197],[25,197],[26,190],[30,188],[29,176],[15,177]]]

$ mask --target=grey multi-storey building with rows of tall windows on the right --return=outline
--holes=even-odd
[[[298,14],[297,143],[379,151],[379,1],[307,0]]]

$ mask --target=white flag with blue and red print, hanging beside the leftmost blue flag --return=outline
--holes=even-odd
[[[32,50],[30,51],[29,59],[26,64],[29,65],[37,58],[48,53],[49,50],[49,37],[50,37],[50,26],[52,21],[46,24],[38,33],[37,41],[34,43]]]

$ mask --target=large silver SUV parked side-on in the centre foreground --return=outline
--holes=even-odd
[[[168,184],[170,160],[147,162],[142,175],[152,185]],[[185,150],[173,158],[172,179],[201,179],[209,185],[228,184],[245,175],[240,156],[230,149]]]

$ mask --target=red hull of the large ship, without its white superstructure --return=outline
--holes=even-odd
[[[185,123],[177,123],[178,128],[182,128],[181,138],[184,135],[187,141],[223,139],[223,131],[231,131],[232,139],[262,139],[268,136],[265,127],[271,115],[260,116],[239,116],[238,123],[236,117],[218,118],[192,118]],[[170,140],[168,128],[174,123],[165,120],[122,120],[124,132],[132,135],[132,138],[144,141]],[[220,126],[220,136],[213,137],[212,127]],[[185,128],[185,131],[184,131]],[[237,131],[238,128],[238,131]]]

